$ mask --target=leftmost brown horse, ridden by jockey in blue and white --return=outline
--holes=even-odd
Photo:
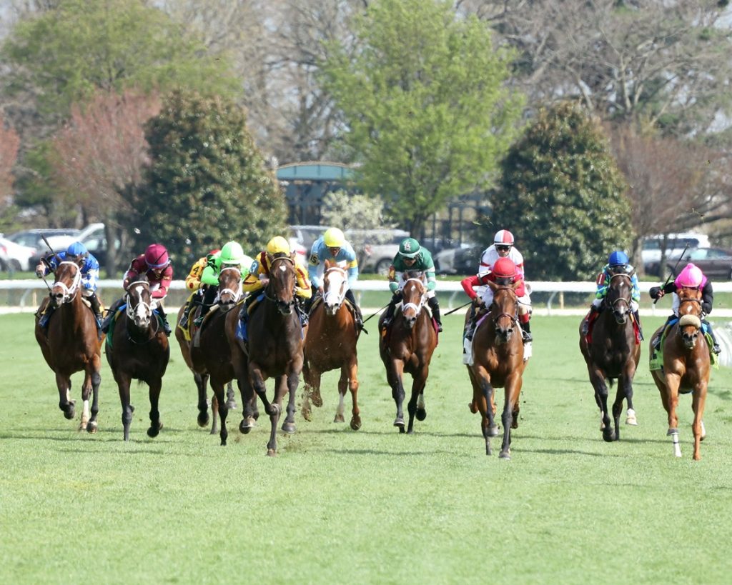
[[[99,412],[99,385],[102,381],[102,340],[97,333],[94,313],[86,306],[81,295],[81,264],[65,260],[56,268],[55,278],[48,298],[41,303],[36,314],[35,335],[43,358],[48,367],[56,374],[56,387],[59,388],[59,408],[64,417],[72,420],[75,416],[75,400],[71,399],[71,374],[84,372],[81,386],[83,410],[80,431],[97,432],[97,413]],[[55,311],[48,319],[48,329],[38,322],[43,309],[51,306]],[[89,395],[91,394],[91,410]]]

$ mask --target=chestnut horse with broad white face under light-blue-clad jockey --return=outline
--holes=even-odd
[[[346,388],[351,390],[351,429],[361,428],[361,415],[356,397],[359,392],[356,341],[359,333],[351,310],[343,302],[348,290],[348,276],[336,263],[325,261],[323,275],[323,300],[310,311],[310,324],[305,338],[305,362],[302,374],[305,378],[305,397],[302,401],[302,415],[310,420],[310,399],[320,407],[323,404],[320,393],[321,375],[324,371],[340,369],[338,380],[338,408],[334,423],[343,423],[343,401]]]

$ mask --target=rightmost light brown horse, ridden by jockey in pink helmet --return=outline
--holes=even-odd
[[[679,418],[676,407],[679,393],[692,393],[694,411],[694,455],[701,459],[699,443],[706,436],[704,431],[704,403],[709,386],[711,361],[709,345],[701,331],[701,290],[682,288],[679,295],[679,321],[671,326],[663,342],[663,369],[651,370],[654,382],[661,393],[663,407],[668,413],[668,432],[673,440],[673,454],[681,457],[679,447]],[[651,339],[660,334],[661,328]],[[651,348],[651,351],[653,349]]]

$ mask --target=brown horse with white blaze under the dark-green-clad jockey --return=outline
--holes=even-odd
[[[425,385],[430,373],[430,360],[437,347],[437,331],[430,313],[425,309],[427,287],[424,276],[417,271],[404,272],[402,303],[388,330],[382,314],[378,321],[378,350],[386,368],[386,382],[392,388],[397,405],[394,426],[404,432],[403,402],[405,397],[403,375],[411,374],[412,392],[407,403],[409,423],[407,432],[414,432],[414,417],[425,420]]]

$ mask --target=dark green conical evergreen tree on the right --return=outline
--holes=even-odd
[[[578,105],[540,110],[501,166],[485,236],[511,230],[531,279],[592,279],[610,251],[628,248],[623,177],[599,122]]]

